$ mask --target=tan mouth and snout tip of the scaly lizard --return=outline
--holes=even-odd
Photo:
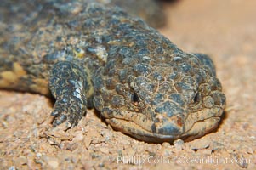
[[[218,109],[219,110],[219,109]],[[208,115],[209,112],[220,113],[215,109],[198,111],[188,114],[185,120],[174,123],[171,121],[159,123],[146,119],[145,115],[138,112],[129,112],[126,117],[109,117],[105,121],[114,129],[126,133],[131,137],[150,143],[172,143],[175,139],[190,141],[202,137],[205,133],[213,131],[219,125],[219,115]],[[221,114],[220,114],[221,115]],[[199,119],[195,118],[199,117]]]

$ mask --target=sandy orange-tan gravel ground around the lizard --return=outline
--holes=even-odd
[[[219,128],[200,139],[147,144],[116,132],[94,110],[52,130],[53,102],[0,91],[1,169],[255,169],[256,1],[166,3],[160,31],[179,48],[210,54],[227,97]]]

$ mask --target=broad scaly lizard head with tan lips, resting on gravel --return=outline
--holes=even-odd
[[[218,126],[225,95],[208,56],[172,50],[118,59],[94,80],[94,105],[112,127],[147,142],[172,142]]]

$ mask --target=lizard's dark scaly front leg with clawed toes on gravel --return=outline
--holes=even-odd
[[[49,88],[56,102],[53,126],[65,122],[65,127],[75,127],[85,116],[92,85],[87,71],[69,61],[54,64],[49,77]]]

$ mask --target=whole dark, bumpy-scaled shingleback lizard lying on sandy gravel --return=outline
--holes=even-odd
[[[121,8],[45,2],[27,14],[2,11],[0,88],[53,95],[54,127],[75,127],[92,107],[146,142],[191,140],[218,126],[225,94],[207,55],[185,53]],[[6,18],[9,10],[18,12]]]

